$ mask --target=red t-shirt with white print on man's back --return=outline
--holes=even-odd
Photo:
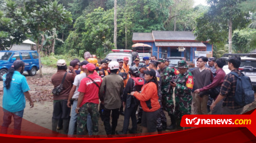
[[[100,76],[92,74],[92,75],[89,75],[88,77],[93,79],[96,82],[96,84],[98,84],[100,87],[102,82],[102,79]],[[88,77],[85,77],[81,80],[80,86],[78,88],[79,92],[84,93],[83,100],[82,100],[82,103],[80,104],[80,107],[87,102],[99,104],[99,88],[95,84],[93,84],[92,80],[89,79]]]

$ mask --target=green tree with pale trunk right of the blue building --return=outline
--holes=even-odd
[[[241,1],[236,0],[209,0],[209,10],[197,19],[197,39],[200,41],[207,39],[221,41],[223,40],[222,35],[227,33],[229,53],[232,53],[232,31],[245,27],[249,22],[249,14],[241,11],[240,3]],[[205,26],[203,21],[206,22]]]

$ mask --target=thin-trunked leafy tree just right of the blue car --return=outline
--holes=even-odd
[[[39,76],[41,73],[40,52],[45,40],[45,33],[53,28],[59,28],[62,24],[71,23],[71,13],[63,8],[57,1],[25,1],[23,14],[26,17],[26,25],[29,27],[31,35],[37,41],[37,51],[39,54]]]

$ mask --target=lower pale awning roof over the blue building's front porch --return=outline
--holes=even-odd
[[[155,42],[156,46],[206,47],[202,42]]]

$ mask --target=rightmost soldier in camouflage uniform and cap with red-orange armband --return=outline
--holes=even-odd
[[[172,80],[174,83],[170,83],[173,87],[175,87],[175,111],[174,114],[177,118],[177,125],[180,127],[180,121],[182,120],[183,115],[187,115],[191,113],[191,87],[193,84],[189,86],[186,85],[186,82],[189,79],[194,80],[192,74],[188,70],[187,62],[182,60],[178,62],[178,65],[175,66],[179,70],[179,74],[176,76],[177,78]]]

